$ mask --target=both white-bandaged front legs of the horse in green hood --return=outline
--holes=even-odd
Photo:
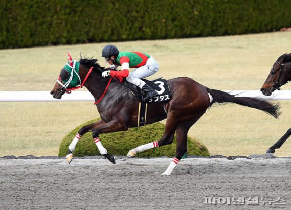
[[[128,128],[122,124],[120,124],[118,121],[113,120],[108,123],[106,123],[103,120],[99,120],[98,122],[86,125],[82,127],[76,136],[74,137],[72,143],[69,146],[68,154],[66,155],[66,161],[68,164],[73,159],[73,151],[76,148],[76,145],[81,138],[81,136],[87,132],[93,131],[93,138],[95,141],[95,144],[97,145],[100,154],[104,155],[107,159],[109,159],[111,162],[115,162],[115,158],[113,155],[107,154],[107,150],[102,146],[100,139],[99,139],[99,134],[100,133],[110,133],[110,132],[117,132],[117,131],[126,131]]]

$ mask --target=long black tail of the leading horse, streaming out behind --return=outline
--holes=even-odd
[[[248,106],[251,108],[259,109],[261,111],[264,111],[275,118],[278,118],[278,116],[281,114],[279,112],[280,105],[272,104],[270,102],[267,102],[263,99],[259,98],[253,98],[253,97],[235,97],[233,95],[228,94],[227,92],[223,92],[221,90],[214,90],[207,88],[207,91],[212,96],[213,100],[210,103],[211,107],[214,103],[235,103],[242,106]]]

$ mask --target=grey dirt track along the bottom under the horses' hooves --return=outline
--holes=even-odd
[[[291,209],[291,159],[0,159],[0,209]],[[257,197],[250,205],[205,197]],[[263,199],[285,202],[282,205]]]

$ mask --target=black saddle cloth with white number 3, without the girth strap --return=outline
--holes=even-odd
[[[156,92],[158,92],[158,96],[155,96],[155,97],[149,99],[149,101],[147,101],[147,103],[166,102],[166,101],[169,101],[171,99],[170,88],[169,88],[169,84],[168,84],[167,80],[162,79],[162,77],[155,79],[155,80],[146,80],[146,79],[141,79],[141,80],[143,80],[146,84],[148,84],[153,89],[155,89]],[[132,94],[140,102],[142,101],[143,91],[141,90],[141,88],[128,82],[126,80],[126,78],[124,78],[123,84],[132,91]]]

